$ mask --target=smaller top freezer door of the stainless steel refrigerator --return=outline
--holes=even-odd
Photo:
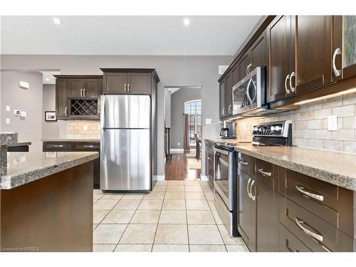
[[[150,95],[102,95],[101,128],[150,128]]]

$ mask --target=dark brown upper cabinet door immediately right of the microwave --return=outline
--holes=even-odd
[[[295,76],[295,42],[292,21],[294,16],[276,16],[267,28],[268,88],[267,101],[286,98],[295,92],[290,79]]]

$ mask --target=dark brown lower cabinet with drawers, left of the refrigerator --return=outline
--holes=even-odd
[[[75,141],[44,141],[43,152],[99,152],[100,141],[98,142],[75,142]],[[94,159],[93,188],[100,188],[100,155]]]

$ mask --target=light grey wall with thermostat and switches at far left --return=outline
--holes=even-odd
[[[19,88],[19,81],[30,84]],[[1,71],[1,131],[18,132],[19,142],[32,142],[30,151],[42,151],[42,73],[34,71]],[[10,111],[6,111],[6,105]],[[27,117],[14,115],[14,110],[26,111]],[[6,118],[10,124],[6,124]]]

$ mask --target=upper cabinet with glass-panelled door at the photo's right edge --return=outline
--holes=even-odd
[[[333,80],[356,75],[356,16],[333,16]]]

